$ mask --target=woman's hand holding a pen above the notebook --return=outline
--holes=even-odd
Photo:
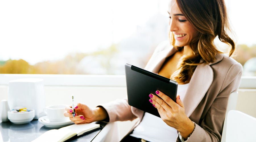
[[[72,112],[73,108],[66,107],[66,111],[64,112],[64,116],[69,117],[71,121],[75,124],[82,123],[91,123],[94,121],[101,121],[107,118],[108,113],[104,108],[96,107],[90,108],[85,104],[78,103],[75,106],[75,117],[73,118]]]

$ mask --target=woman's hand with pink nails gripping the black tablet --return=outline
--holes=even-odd
[[[157,108],[162,120],[167,125],[178,130],[184,138],[188,137],[194,129],[194,124],[185,114],[185,107],[179,95],[177,95],[176,102],[174,102],[161,91],[156,91],[156,94],[160,98],[150,94],[149,97],[151,99],[149,101]]]

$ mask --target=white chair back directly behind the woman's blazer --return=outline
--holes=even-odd
[[[237,91],[232,92],[229,95],[228,106],[227,106],[226,116],[225,116],[225,120],[224,120],[223,130],[222,130],[221,142],[225,142],[226,141],[226,128],[227,128],[228,112],[230,110],[236,110],[237,98],[238,98],[238,92]]]

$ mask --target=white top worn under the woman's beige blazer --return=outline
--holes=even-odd
[[[177,95],[180,95],[181,101],[185,97],[188,85],[189,83],[178,85]],[[134,129],[131,136],[151,142],[170,142],[176,141],[178,133],[175,128],[168,126],[161,118],[145,112],[141,123]]]

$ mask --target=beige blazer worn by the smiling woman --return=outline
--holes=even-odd
[[[165,59],[175,52],[176,49],[170,46],[157,47],[145,69],[158,73]],[[185,113],[196,123],[195,131],[187,142],[220,141],[228,97],[238,89],[241,75],[241,64],[223,54],[217,55],[216,60],[210,64],[197,66],[185,97],[181,100]],[[128,105],[127,99],[101,106],[108,112],[110,122],[133,120],[137,117],[141,122],[144,116],[142,110]],[[178,137],[177,141],[180,141]]]

